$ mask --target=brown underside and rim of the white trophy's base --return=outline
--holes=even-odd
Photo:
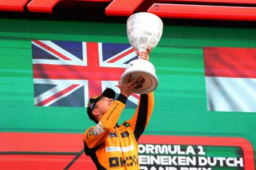
[[[147,94],[154,91],[158,86],[158,79],[156,75],[143,70],[131,70],[129,72],[124,72],[121,76],[121,82],[124,83],[129,75],[131,75],[130,81],[140,76],[145,80],[142,87],[134,90],[135,94]]]

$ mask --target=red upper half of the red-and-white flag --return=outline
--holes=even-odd
[[[204,47],[205,76],[256,78],[256,49]]]

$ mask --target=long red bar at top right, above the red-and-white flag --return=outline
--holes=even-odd
[[[163,18],[256,21],[255,7],[155,3],[147,12],[154,13]]]

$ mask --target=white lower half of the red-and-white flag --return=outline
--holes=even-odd
[[[210,111],[256,112],[256,79],[205,77]]]

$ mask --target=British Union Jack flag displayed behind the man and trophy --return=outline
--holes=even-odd
[[[130,44],[32,41],[35,106],[87,107],[106,88],[119,94],[118,80],[137,58]],[[117,96],[117,95],[116,95]],[[127,107],[139,96],[128,98]]]

